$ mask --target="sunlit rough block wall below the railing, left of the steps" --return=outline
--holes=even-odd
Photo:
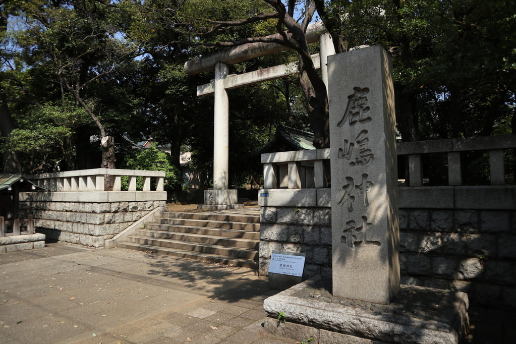
[[[88,247],[104,246],[104,240],[122,232],[165,201],[59,202],[31,200],[20,202],[22,213],[33,214],[36,231],[47,240],[59,240]]]

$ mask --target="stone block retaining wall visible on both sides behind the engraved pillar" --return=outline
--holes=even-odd
[[[505,193],[494,190],[493,193],[501,195],[495,204],[485,203],[495,199],[495,195],[485,194],[483,189],[477,192],[476,201],[467,198],[467,206],[472,209],[429,202],[430,194],[425,205],[424,199],[412,200],[409,196],[412,191],[401,191],[401,283],[460,290],[467,292],[473,304],[516,308],[516,210],[511,196],[514,190]],[[315,206],[324,202],[314,200],[309,204],[307,199],[302,199],[299,206],[292,206],[295,197],[290,195],[289,206],[282,207],[279,205],[283,201],[270,201],[276,192],[285,193],[261,191],[267,193],[268,200],[260,201],[259,273],[267,274],[270,253],[279,250],[307,254],[303,280],[317,274],[331,277],[329,204]],[[429,189],[424,192],[431,193]],[[454,197],[449,203],[455,207],[465,202],[457,195]],[[475,205],[475,202],[483,204]]]

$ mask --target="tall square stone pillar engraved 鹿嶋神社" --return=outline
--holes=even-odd
[[[332,292],[383,304],[400,283],[391,71],[379,45],[328,57]]]

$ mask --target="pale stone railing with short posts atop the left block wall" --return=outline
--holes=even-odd
[[[140,171],[122,169],[90,169],[67,171],[57,173],[41,173],[26,175],[33,181],[49,191],[105,191],[106,177],[114,178],[113,188],[110,191],[121,191],[122,176],[128,177],[128,191],[136,191],[136,178],[143,177],[143,189],[151,191],[151,179],[156,179],[156,189],[163,191],[165,172]]]

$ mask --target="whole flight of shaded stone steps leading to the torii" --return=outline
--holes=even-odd
[[[259,243],[259,215],[164,211],[117,246],[257,269]]]

